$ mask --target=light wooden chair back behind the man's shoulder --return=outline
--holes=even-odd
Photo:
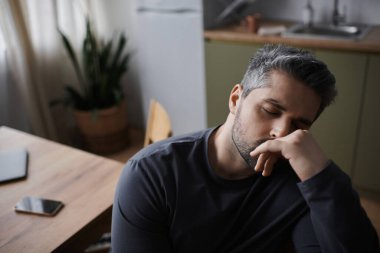
[[[155,99],[150,101],[148,121],[145,131],[144,147],[166,139],[172,135],[169,114]]]

